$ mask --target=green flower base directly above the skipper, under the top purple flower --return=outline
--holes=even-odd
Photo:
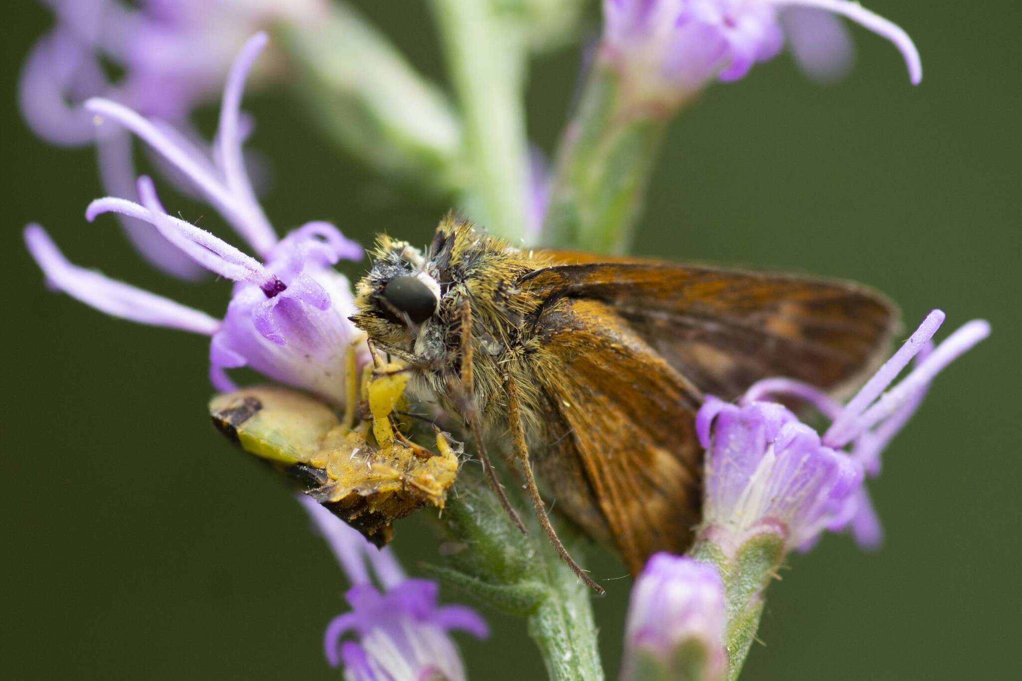
[[[543,244],[623,253],[673,107],[635,104],[597,58],[557,152]]]

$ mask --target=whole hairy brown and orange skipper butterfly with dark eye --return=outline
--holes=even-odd
[[[638,258],[523,250],[446,218],[423,252],[378,239],[352,321],[408,363],[412,394],[464,420],[483,447],[510,433],[537,517],[557,506],[635,574],[684,551],[699,522],[704,393],[737,397],[787,376],[838,389],[872,368],[896,326],[864,287]]]

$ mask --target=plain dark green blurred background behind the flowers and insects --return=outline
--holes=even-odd
[[[321,637],[343,607],[339,569],[278,481],[210,426],[206,342],[50,294],[21,245],[38,221],[76,262],[213,313],[227,300],[224,283],[148,270],[111,220],[85,222],[101,191],[92,151],[43,144],[14,105],[20,62],[50,23],[16,4],[0,44],[0,677],[337,678]],[[424,6],[361,4],[442,77]],[[836,86],[782,56],[712,87],[671,128],[636,250],[858,280],[911,326],[935,306],[948,329],[991,321],[992,338],[938,379],[871,486],[886,545],[866,554],[829,536],[793,556],[743,678],[1019,678],[1022,12],[1010,0],[869,5],[914,37],[923,84],[856,30],[857,63]],[[565,49],[533,64],[530,134],[548,151],[577,62]],[[282,94],[246,107],[259,120],[250,146],[272,162],[265,206],[278,230],[324,218],[363,241],[387,230],[424,242],[449,207],[333,152]],[[189,210],[216,224],[210,208]],[[435,555],[414,519],[396,545],[408,566]],[[596,551],[588,565],[624,573]],[[630,581],[607,586],[596,613],[613,678]],[[491,641],[463,640],[471,675],[541,678],[523,623],[492,622]]]

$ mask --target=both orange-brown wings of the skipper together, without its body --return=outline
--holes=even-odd
[[[853,284],[550,255],[571,263],[519,281],[546,301],[533,323],[552,425],[537,467],[634,574],[691,542],[704,392],[731,399],[770,376],[835,388],[880,360],[896,326],[893,305]]]

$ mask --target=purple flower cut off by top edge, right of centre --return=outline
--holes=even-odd
[[[908,34],[856,2],[604,0],[603,13],[603,58],[626,70],[628,87],[642,98],[678,100],[714,78],[738,80],[754,63],[776,56],[786,34],[803,68],[833,78],[850,61],[850,43],[833,14],[890,40],[904,57],[911,81],[922,79]]]

